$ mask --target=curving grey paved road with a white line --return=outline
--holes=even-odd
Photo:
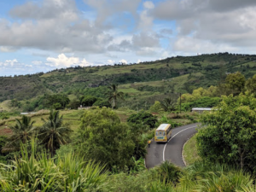
[[[185,166],[182,158],[183,144],[197,132],[195,129],[198,125],[200,124],[183,125],[172,129],[172,137],[168,143],[153,141],[146,155],[147,168],[157,166],[166,160],[171,160],[177,166]]]

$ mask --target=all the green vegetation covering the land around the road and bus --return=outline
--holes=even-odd
[[[0,99],[11,109],[0,113],[1,129],[11,131],[0,137],[0,190],[256,191],[255,61],[219,53],[0,78]],[[64,121],[61,113],[81,105],[90,109]],[[186,112],[193,107],[215,110]],[[11,118],[45,108],[37,121]],[[154,128],[198,117],[198,161],[146,170]]]

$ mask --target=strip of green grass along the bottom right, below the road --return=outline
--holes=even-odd
[[[108,177],[103,191],[140,192],[253,192],[253,177],[230,166],[195,163],[183,170],[164,163],[138,174],[119,173]]]

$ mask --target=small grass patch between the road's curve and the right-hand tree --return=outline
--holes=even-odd
[[[189,141],[185,143],[183,148],[183,158],[187,166],[192,165],[197,160],[201,160],[197,152],[195,137],[196,135],[191,137]]]

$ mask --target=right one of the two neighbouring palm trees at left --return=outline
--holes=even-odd
[[[53,156],[56,149],[70,141],[69,138],[72,130],[68,125],[63,125],[63,115],[60,117],[59,111],[51,110],[49,118],[47,120],[42,118],[42,120],[44,125],[40,127],[38,137]]]

